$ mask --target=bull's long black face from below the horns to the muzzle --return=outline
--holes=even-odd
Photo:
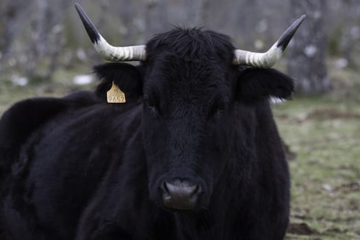
[[[226,69],[215,52],[208,61],[154,53],[145,66],[143,139],[150,198],[167,208],[206,208],[215,170],[224,163],[230,64]]]

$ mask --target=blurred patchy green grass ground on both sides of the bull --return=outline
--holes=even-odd
[[[86,72],[86,71],[85,71]],[[84,71],[77,71],[84,73]],[[273,106],[289,150],[291,224],[286,239],[360,239],[360,82],[355,71],[331,71],[333,91]],[[13,86],[0,79],[0,114],[26,97],[91,88],[60,72],[50,84]]]

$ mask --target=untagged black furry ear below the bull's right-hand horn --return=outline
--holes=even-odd
[[[245,101],[271,97],[290,99],[293,82],[291,77],[275,69],[248,68],[239,74],[236,95]]]

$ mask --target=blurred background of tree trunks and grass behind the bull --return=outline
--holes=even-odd
[[[144,44],[173,25],[228,34],[267,51],[307,19],[274,66],[296,80],[274,106],[292,174],[288,239],[360,239],[359,0],[78,0],[112,45]],[[96,85],[94,51],[74,1],[0,0],[0,114],[25,97]]]

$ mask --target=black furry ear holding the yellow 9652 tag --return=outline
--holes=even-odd
[[[126,101],[137,100],[142,95],[142,77],[138,67],[121,62],[109,62],[93,67],[93,71],[101,80],[95,94],[104,101],[112,81],[125,93]]]

